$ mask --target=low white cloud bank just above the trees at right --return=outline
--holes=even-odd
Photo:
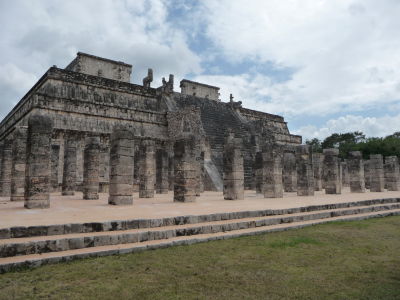
[[[332,133],[345,133],[362,131],[367,137],[383,137],[396,131],[400,131],[400,114],[383,117],[362,117],[346,115],[337,119],[331,119],[320,128],[308,125],[294,131],[303,139],[324,139]]]

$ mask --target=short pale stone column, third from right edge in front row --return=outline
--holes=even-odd
[[[350,192],[364,193],[364,163],[360,151],[352,151],[349,153],[347,166],[349,169]]]

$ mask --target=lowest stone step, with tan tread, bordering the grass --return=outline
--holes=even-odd
[[[252,227],[247,229],[232,230],[229,232],[206,233],[191,236],[177,236],[169,239],[160,239],[152,241],[143,241],[136,243],[97,246],[91,248],[75,249],[61,252],[50,252],[42,254],[31,254],[24,256],[14,256],[0,258],[0,273],[5,273],[21,267],[38,267],[50,263],[66,262],[73,259],[87,257],[100,257],[106,255],[120,255],[127,253],[140,252],[144,250],[166,248],[179,245],[190,245],[200,242],[213,240],[222,240],[241,236],[257,235],[276,231],[285,231],[290,229],[299,229],[306,226],[312,226],[333,221],[353,221],[376,217],[386,217],[400,215],[400,209],[387,210],[383,212],[361,213],[357,215],[336,216],[327,219],[306,220],[295,223],[281,223],[268,227]]]

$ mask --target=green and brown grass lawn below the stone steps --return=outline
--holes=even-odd
[[[400,217],[21,270],[0,299],[400,299]]]

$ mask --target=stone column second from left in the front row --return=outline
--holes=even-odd
[[[124,126],[115,126],[111,133],[109,204],[133,203],[133,140],[133,132]]]

